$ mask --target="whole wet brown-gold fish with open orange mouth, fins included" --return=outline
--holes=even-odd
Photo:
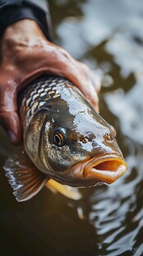
[[[44,74],[18,99],[23,147],[3,167],[17,201],[46,184],[79,199],[70,187],[110,184],[126,173],[116,130],[69,80]]]

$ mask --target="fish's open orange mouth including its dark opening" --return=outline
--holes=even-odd
[[[87,179],[104,183],[114,183],[127,171],[124,159],[115,154],[93,159],[85,165],[83,175]]]

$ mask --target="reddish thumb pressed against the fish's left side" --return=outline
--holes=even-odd
[[[7,87],[4,87],[7,88]],[[21,144],[21,122],[17,114],[16,91],[0,86],[0,124],[13,145]]]

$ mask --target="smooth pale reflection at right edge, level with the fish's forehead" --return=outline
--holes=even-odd
[[[122,89],[108,92],[105,100],[109,109],[115,116],[118,116],[122,134],[131,140],[143,145],[143,86],[136,83],[127,93]]]

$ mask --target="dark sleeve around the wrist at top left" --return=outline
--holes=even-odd
[[[51,21],[46,0],[0,0],[0,37],[7,26],[23,19],[38,22],[48,40],[51,40]]]

